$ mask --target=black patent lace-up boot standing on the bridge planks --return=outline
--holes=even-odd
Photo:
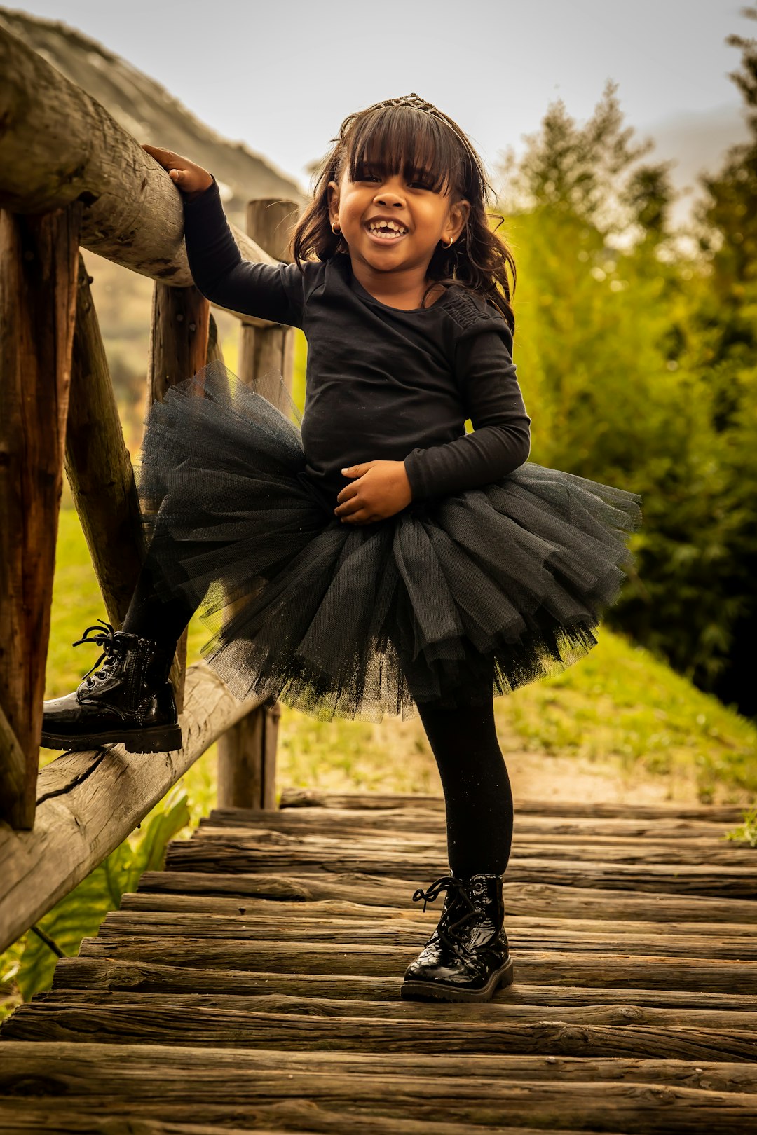
[[[490,1001],[513,980],[502,875],[444,875],[413,902],[434,902],[446,890],[439,924],[421,953],[405,970],[401,995],[410,1000]]]

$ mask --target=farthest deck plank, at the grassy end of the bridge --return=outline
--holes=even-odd
[[[323,792],[314,789],[284,788],[279,808],[382,809],[423,808],[444,813],[444,798],[419,792]],[[521,816],[629,817],[631,819],[706,819],[710,823],[740,823],[743,808],[738,805],[678,804],[586,804],[582,800],[519,800]]]

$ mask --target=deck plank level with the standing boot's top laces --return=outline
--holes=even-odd
[[[313,902],[327,899],[363,906],[412,908],[413,884],[407,880],[359,873],[318,872],[306,875],[284,873],[224,873],[149,871],[140,880],[140,893],[218,894],[242,899],[270,898]],[[580,915],[584,918],[628,918],[667,922],[740,922],[757,924],[757,902],[748,899],[717,899],[707,896],[665,892],[607,890],[589,886],[561,886],[544,883],[503,885],[505,910],[510,914]]]

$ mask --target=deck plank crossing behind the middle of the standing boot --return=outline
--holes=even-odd
[[[430,917],[429,917],[430,915]],[[152,910],[111,910],[102,922],[98,936],[103,940],[125,939],[128,934],[143,938],[182,938],[195,941],[228,940],[280,942],[344,942],[354,944],[375,942],[377,945],[396,945],[398,949],[420,950],[432,932],[438,919],[427,911],[423,920],[396,919],[393,922],[364,919],[336,919],[333,917],[310,917],[293,920],[277,911],[267,915],[241,914],[178,914],[165,915]],[[523,926],[505,923],[511,949],[571,950],[586,953],[592,951],[655,955],[676,958],[721,958],[757,961],[757,938],[741,935],[718,938],[713,942],[706,934],[674,934],[666,928],[645,934],[639,930],[626,933],[603,933],[595,925],[591,930],[573,928],[570,922],[560,925]],[[170,949],[170,942],[166,943]]]

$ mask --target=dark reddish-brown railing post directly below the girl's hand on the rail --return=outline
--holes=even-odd
[[[150,364],[148,375],[148,409],[160,402],[169,388],[190,378],[208,360],[210,304],[202,293],[191,287],[169,287],[155,283],[152,294],[150,330]],[[184,708],[186,671],[186,631],[176,648],[170,679],[176,708]]]

